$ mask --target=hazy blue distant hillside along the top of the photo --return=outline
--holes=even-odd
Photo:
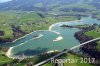
[[[77,3],[92,5],[93,7],[99,8],[99,2],[100,0],[12,0],[0,3],[0,10],[50,11],[56,7],[64,7],[65,5]]]

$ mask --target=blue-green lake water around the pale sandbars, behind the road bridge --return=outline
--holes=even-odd
[[[63,50],[69,49],[75,45],[79,44],[79,41],[75,39],[75,32],[79,31],[77,28],[62,28],[60,27],[62,24],[68,25],[83,25],[83,24],[100,24],[100,21],[97,19],[93,19],[91,17],[83,17],[80,22],[60,22],[56,23],[51,30],[59,32],[60,34],[56,34],[51,31],[37,31],[29,34],[23,39],[20,39],[14,43],[9,43],[3,46],[13,47],[10,51],[11,55],[38,55],[42,52],[47,52],[50,50]],[[43,36],[37,39],[33,39],[34,35]],[[63,39],[59,41],[53,41],[57,37],[61,36]]]

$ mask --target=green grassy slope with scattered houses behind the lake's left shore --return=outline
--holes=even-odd
[[[30,33],[34,30],[45,30],[56,22],[76,20],[76,17],[52,17],[40,12],[31,11],[1,11],[0,30],[4,35],[0,38],[13,38],[12,25],[23,32]]]

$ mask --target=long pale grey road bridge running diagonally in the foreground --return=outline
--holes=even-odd
[[[58,53],[57,55],[52,56],[51,58],[49,58],[49,59],[47,59],[47,60],[44,60],[44,61],[42,61],[42,62],[40,62],[40,63],[38,63],[38,64],[36,64],[36,65],[34,65],[34,66],[41,66],[41,65],[43,65],[43,64],[45,64],[45,63],[47,63],[47,62],[49,62],[52,58],[59,57],[59,56],[63,55],[64,53],[67,53],[67,52],[70,51],[70,50],[76,49],[76,48],[78,48],[78,47],[81,47],[81,46],[83,46],[83,45],[86,45],[86,44],[88,44],[88,43],[91,43],[91,42],[93,42],[93,41],[98,41],[98,40],[100,40],[100,37],[99,37],[99,38],[92,39],[92,40],[89,40],[89,41],[84,42],[84,43],[82,43],[82,44],[79,44],[79,45],[77,45],[77,46],[74,46],[74,47],[70,48],[69,50],[62,51],[61,53]]]

